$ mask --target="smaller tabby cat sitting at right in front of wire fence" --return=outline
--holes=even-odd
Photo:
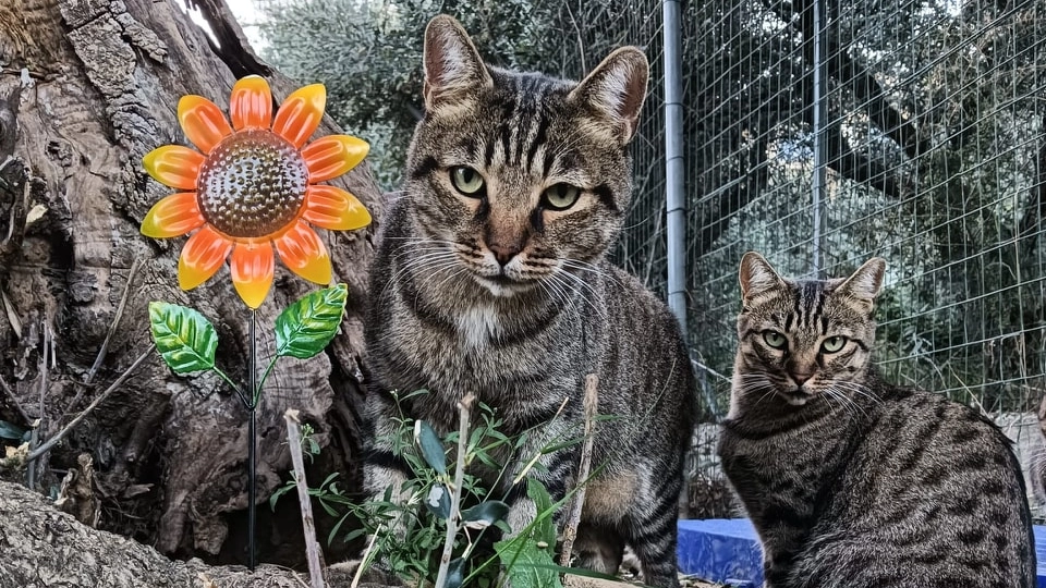
[[[990,420],[884,382],[872,311],[886,264],[791,281],[741,261],[722,467],[768,588],[1032,588],[1031,514]]]

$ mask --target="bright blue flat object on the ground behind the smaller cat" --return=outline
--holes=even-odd
[[[1046,527],[1035,527],[1038,588],[1046,588]],[[679,569],[740,588],[763,586],[763,553],[747,518],[679,522]]]

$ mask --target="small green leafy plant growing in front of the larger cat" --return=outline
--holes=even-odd
[[[426,393],[416,391],[397,397],[397,403]],[[428,422],[412,420],[400,412],[394,432],[385,440],[411,470],[399,489],[388,488],[382,497],[356,503],[339,485],[337,473],[318,488],[309,489],[320,507],[338,517],[328,543],[341,535],[346,520],[355,518],[360,527],[344,534],[342,540],[370,538],[361,567],[380,561],[386,571],[409,585],[494,588],[500,578],[507,577],[514,588],[561,588],[559,575],[568,569],[554,560],[557,534],[552,515],[571,495],[554,503],[539,481],[526,477],[521,483],[526,485],[537,516],[524,529],[510,529],[506,523],[508,504],[491,498],[473,470],[495,473],[497,481],[510,475],[502,456],[523,446],[530,431],[506,436],[500,431],[501,419],[483,403],[478,404],[478,425],[469,430],[466,413],[467,408],[462,411],[463,426],[459,431],[440,438]],[[559,440],[539,453],[581,441]],[[316,450],[303,449],[306,453]],[[453,455],[453,462],[448,455]],[[540,467],[536,463],[535,456],[528,465]],[[289,480],[272,494],[270,504],[275,507],[277,500],[294,488],[295,481]],[[492,544],[484,541],[490,527],[497,527],[508,538]]]

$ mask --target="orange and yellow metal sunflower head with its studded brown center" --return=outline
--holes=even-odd
[[[294,273],[330,283],[330,255],[311,224],[348,231],[369,224],[370,213],[352,194],[319,182],[354,168],[369,147],[348,135],[305,145],[326,101],[321,84],[305,86],[273,117],[268,83],[244,77],[229,98],[230,126],[210,100],[182,97],[178,120],[198,151],[165,145],[143,158],[149,175],[185,192],[158,201],[141,229],[158,238],[196,231],[178,262],[182,290],[206,282],[229,258],[236,293],[257,308],[272,285],[273,249]]]

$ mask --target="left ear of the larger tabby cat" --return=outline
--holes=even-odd
[[[478,87],[491,84],[469,33],[452,16],[440,14],[425,28],[425,108],[433,111],[460,101]]]

